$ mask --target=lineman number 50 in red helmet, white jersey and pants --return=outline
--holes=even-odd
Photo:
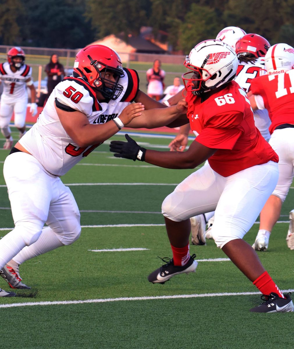
[[[79,209],[60,176],[124,125],[172,127],[178,116],[184,124],[185,113],[185,101],[166,108],[140,91],[137,72],[123,68],[109,47],[79,51],[73,76],[54,88],[36,124],[5,160],[15,228],[0,240],[0,275],[10,287],[30,288],[21,282],[21,263],[80,236]],[[15,293],[0,289],[0,297],[10,296]]]

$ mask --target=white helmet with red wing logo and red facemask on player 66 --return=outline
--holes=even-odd
[[[238,58],[231,46],[218,40],[196,45],[186,56],[184,66],[192,71],[182,75],[186,91],[194,95],[208,92],[233,80]],[[190,74],[188,77],[187,75]]]

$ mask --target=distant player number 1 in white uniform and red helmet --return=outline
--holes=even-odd
[[[28,92],[31,91],[32,116],[37,113],[36,90],[31,78],[32,68],[24,64],[25,54],[20,47],[13,47],[7,52],[8,62],[0,64],[0,83],[3,92],[0,99],[0,128],[6,138],[4,149],[12,148],[13,139],[9,123],[14,112],[14,125],[20,131],[20,138],[25,133],[25,116],[27,114]]]

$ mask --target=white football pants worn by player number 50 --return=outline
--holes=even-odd
[[[29,246],[37,241],[46,223],[62,244],[70,245],[78,239],[79,209],[72,192],[59,177],[47,172],[35,157],[22,152],[6,158],[3,174],[15,224],[7,236],[20,237]]]

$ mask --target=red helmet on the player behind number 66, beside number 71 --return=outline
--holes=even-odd
[[[270,43],[258,34],[246,34],[236,43],[237,56],[264,57],[271,47]]]

